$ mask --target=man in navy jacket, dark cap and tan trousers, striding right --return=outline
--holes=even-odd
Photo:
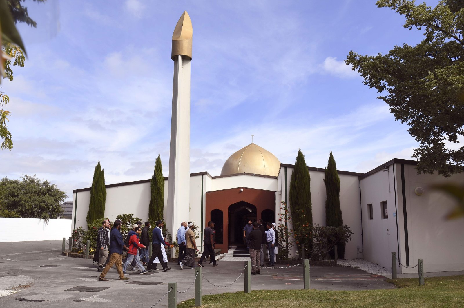
[[[119,230],[121,230],[121,222],[116,221],[110,235],[110,261],[108,261],[100,277],[98,277],[100,281],[108,281],[105,276],[114,264],[116,264],[119,280],[129,280],[128,277],[124,277],[124,273],[122,272],[122,248],[128,249],[128,247],[124,245]]]

